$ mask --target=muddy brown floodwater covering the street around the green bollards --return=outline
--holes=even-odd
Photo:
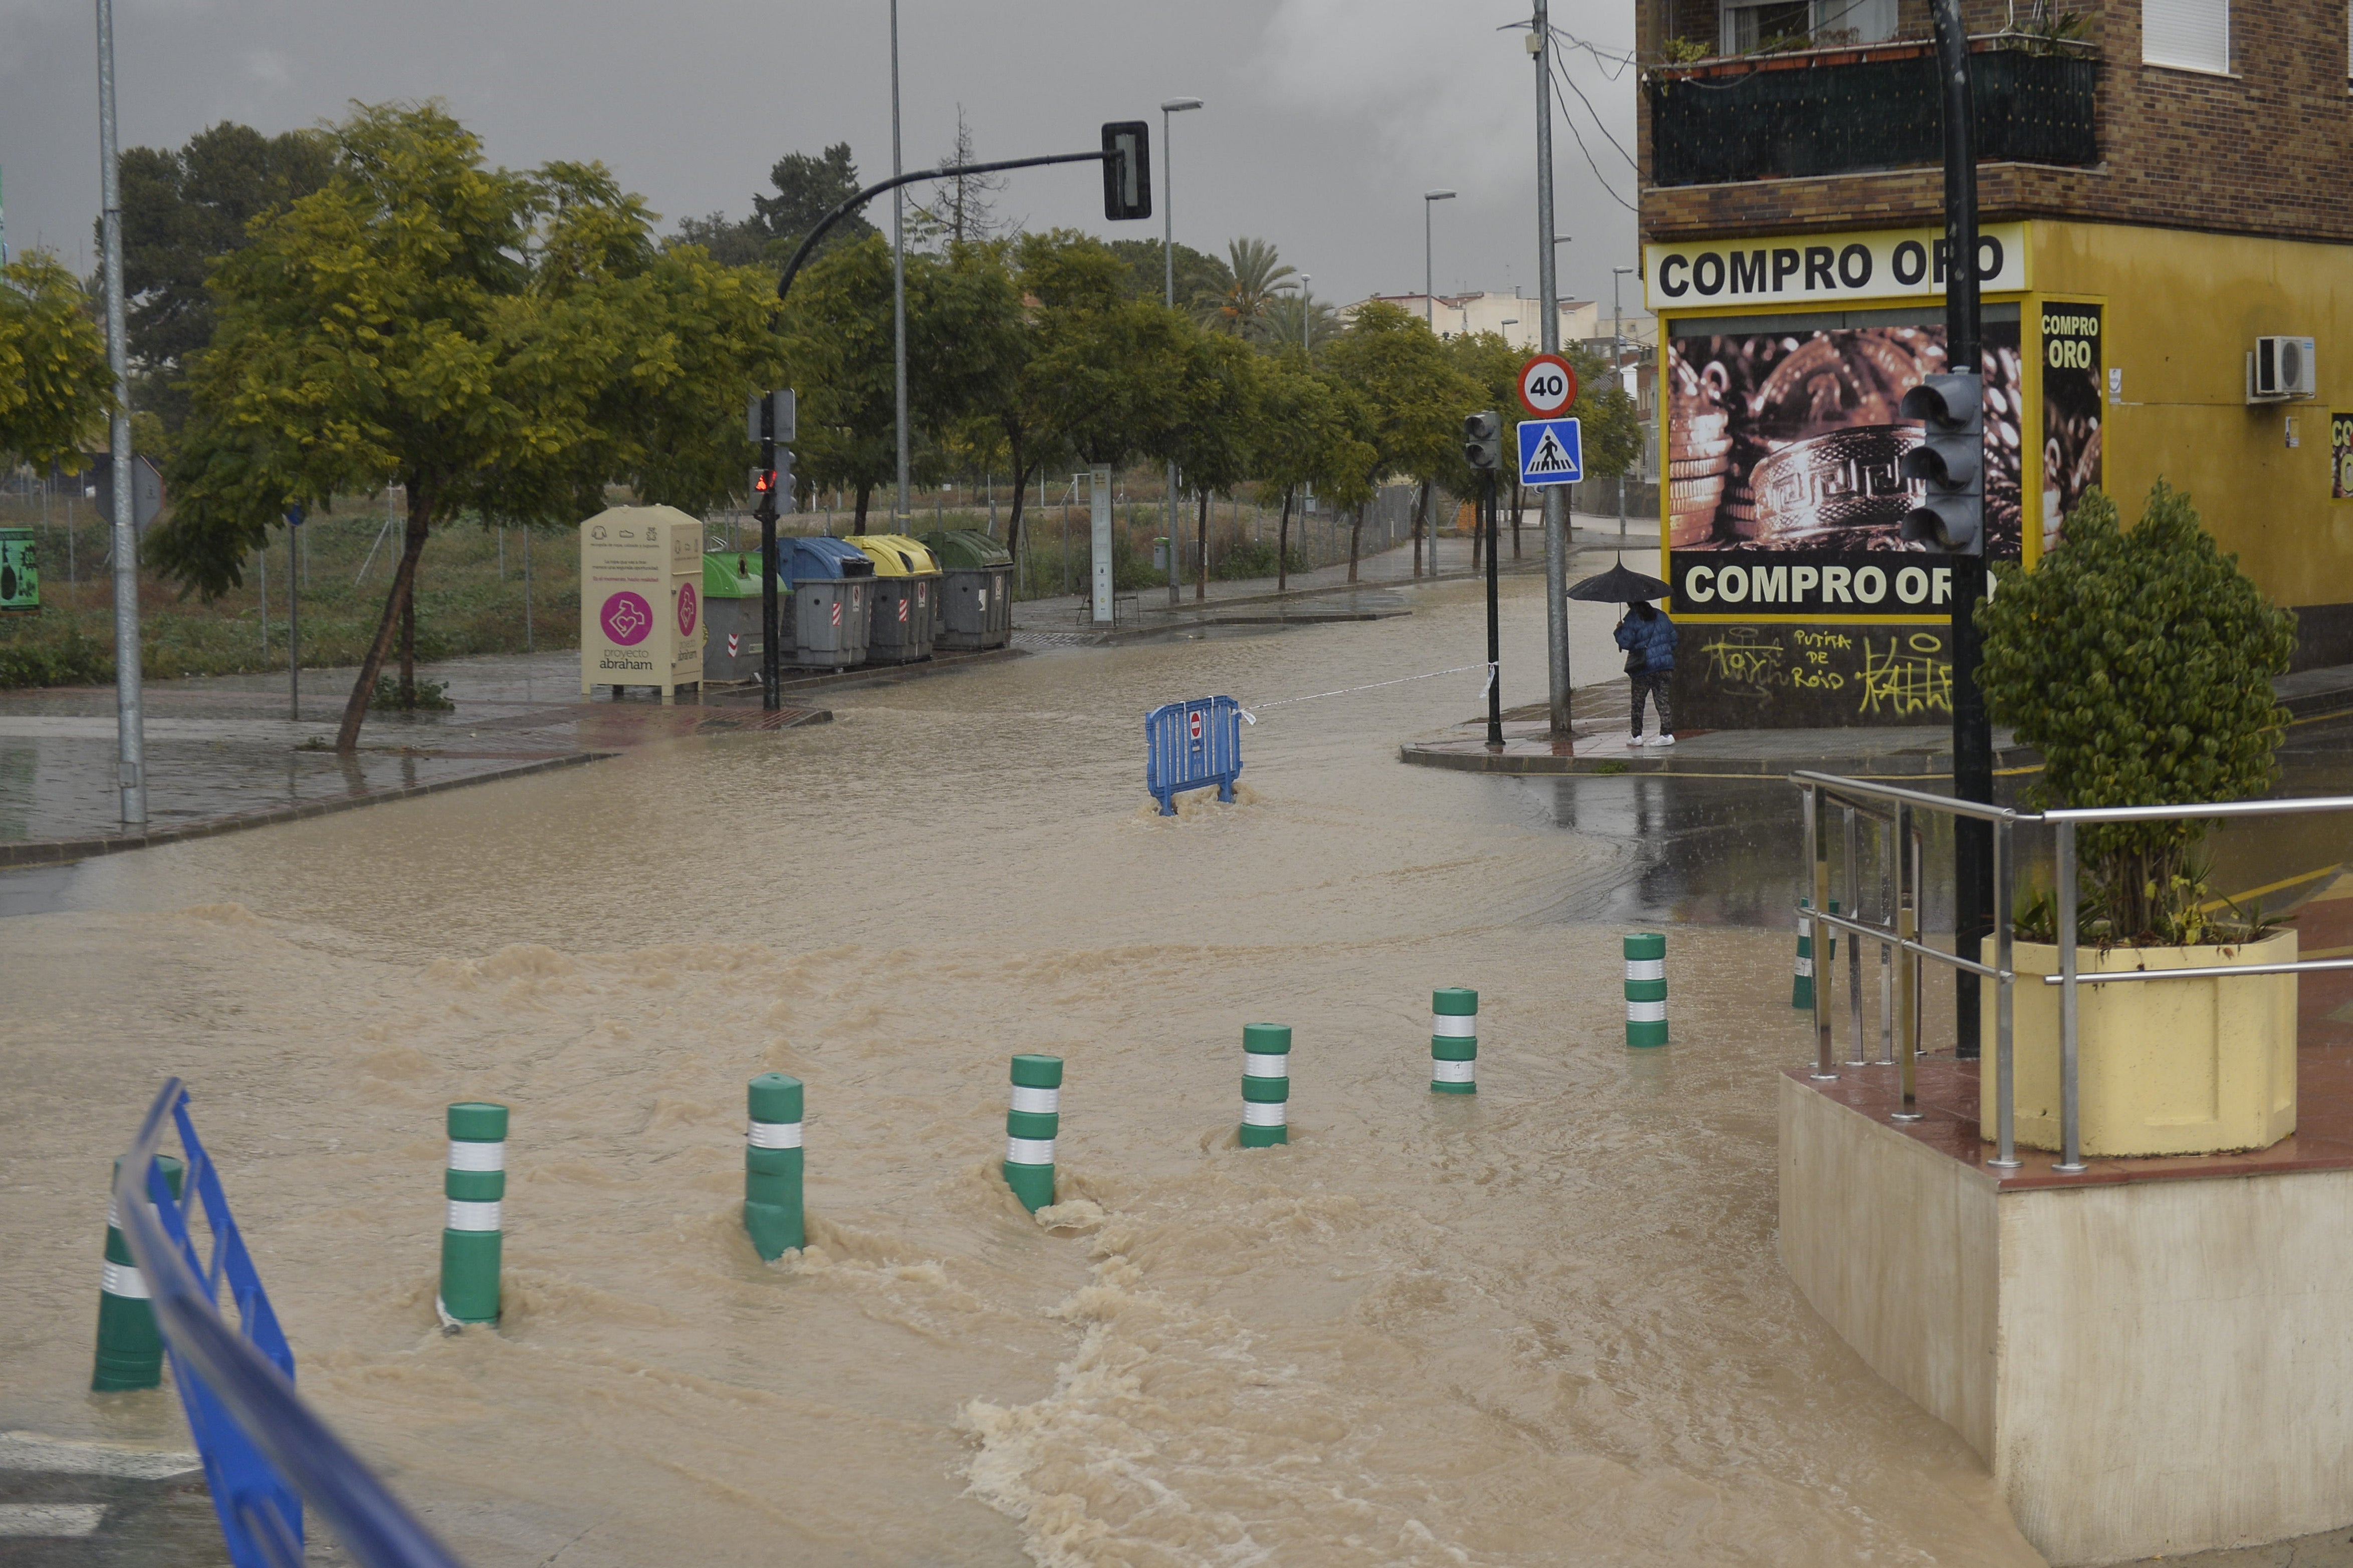
[[[1508,670],[1541,632],[1513,583]],[[184,1441],[82,1392],[106,1164],[176,1072],[304,1392],[475,1568],[2040,1561],[1774,1258],[1781,922],[1673,926],[1675,1044],[1628,1053],[1621,929],[1565,910],[1633,849],[1395,762],[1478,677],[1271,708],[1240,804],[1144,799],[1151,703],[1478,639],[1424,590],[85,867],[99,910],[0,931],[0,1427]],[[1426,1088],[1435,985],[1480,990],[1473,1100]],[[1285,1150],[1235,1147],[1249,1020],[1297,1030]],[[1014,1051],[1068,1060],[1035,1220]],[[809,1086],[772,1267],[762,1070]],[[442,1338],[459,1098],[513,1105],[508,1295]]]

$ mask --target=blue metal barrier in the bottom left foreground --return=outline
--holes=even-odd
[[[155,1166],[167,1117],[188,1164],[181,1201]],[[209,1265],[198,1260],[188,1234],[198,1201],[212,1232]],[[228,1213],[221,1175],[198,1143],[179,1079],[155,1095],[122,1157],[115,1215],[155,1305],[228,1561],[301,1568],[308,1502],[362,1568],[461,1568],[294,1392],[294,1352]],[[224,1279],[238,1307],[235,1328],[216,1305]]]

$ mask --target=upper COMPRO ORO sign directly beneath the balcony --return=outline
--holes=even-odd
[[[1713,310],[1944,296],[1948,261],[1941,228],[1645,244],[1642,299],[1652,310]],[[1977,230],[1977,287],[2026,289],[2024,223]]]

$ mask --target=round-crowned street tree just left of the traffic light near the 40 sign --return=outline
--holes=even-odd
[[[1365,409],[1377,454],[1367,487],[1381,475],[1405,475],[1421,487],[1414,508],[1414,576],[1421,576],[1421,536],[1428,524],[1431,491],[1461,463],[1464,414],[1480,407],[1480,388],[1447,357],[1419,315],[1388,301],[1358,306],[1348,331],[1322,360],[1348,383]],[[1355,581],[1365,515],[1358,508],[1348,529],[1348,581]]]

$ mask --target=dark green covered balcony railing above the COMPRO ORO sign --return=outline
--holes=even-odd
[[[1995,42],[1979,47],[1969,66],[1981,162],[2099,162],[2092,125],[2097,59]],[[1944,162],[1937,59],[1925,45],[1661,66],[1645,73],[1642,94],[1649,101],[1652,186]]]

